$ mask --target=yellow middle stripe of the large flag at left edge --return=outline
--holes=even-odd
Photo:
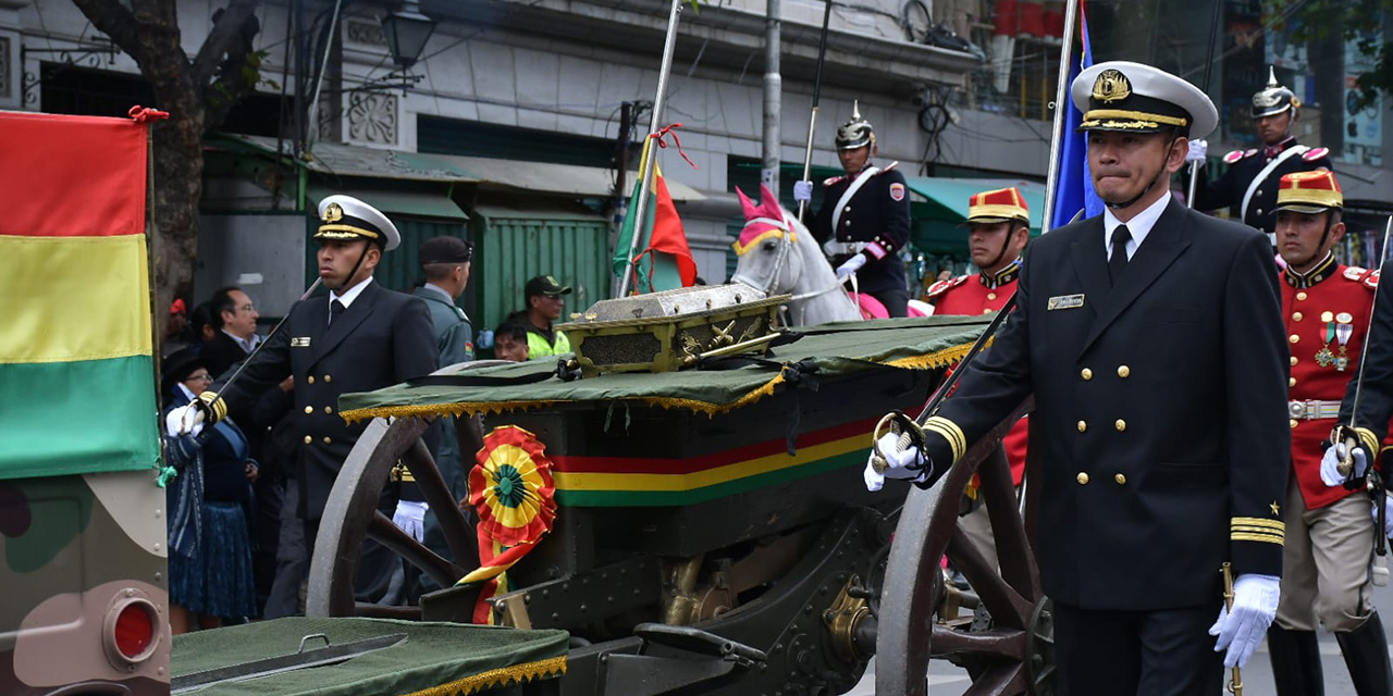
[[[0,363],[153,352],[143,235],[0,237]]]

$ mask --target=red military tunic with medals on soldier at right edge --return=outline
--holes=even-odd
[[[1291,466],[1307,509],[1316,509],[1362,494],[1362,489],[1330,487],[1321,480],[1321,443],[1329,440],[1344,388],[1357,374],[1378,271],[1341,266],[1328,256],[1305,274],[1291,269],[1280,273],[1291,351]]]

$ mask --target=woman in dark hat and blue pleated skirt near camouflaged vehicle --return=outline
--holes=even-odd
[[[163,362],[166,412],[208,388],[212,376],[192,351]],[[258,465],[247,437],[227,418],[196,436],[170,436],[169,462],[178,472],[167,487],[170,629],[216,628],[224,618],[256,614],[252,544],[245,507]]]

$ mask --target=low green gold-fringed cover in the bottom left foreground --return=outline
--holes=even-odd
[[[283,618],[174,636],[180,677],[295,654],[305,636],[333,646],[405,633],[405,640],[344,663],[224,682],[199,696],[454,696],[549,679],[566,671],[566,631],[371,618]],[[305,650],[325,647],[322,639]]]

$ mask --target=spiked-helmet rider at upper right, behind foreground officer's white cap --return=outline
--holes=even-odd
[[[1276,246],[1277,188],[1282,177],[1293,171],[1329,170],[1330,150],[1297,143],[1291,127],[1301,117],[1301,100],[1277,84],[1277,74],[1268,68],[1268,86],[1252,95],[1252,122],[1262,148],[1233,150],[1224,155],[1229,171],[1215,181],[1195,187],[1195,210],[1229,209],[1231,220],[1268,232]],[[1190,159],[1204,161],[1208,145],[1191,141]]]

